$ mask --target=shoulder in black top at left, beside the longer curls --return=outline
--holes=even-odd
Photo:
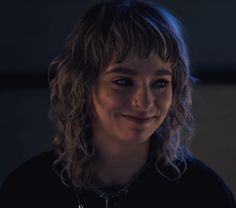
[[[70,189],[61,182],[53,169],[55,160],[55,152],[47,151],[16,168],[0,189],[0,207],[35,207],[39,204],[47,207],[50,203],[62,204],[64,199],[61,196],[70,198]],[[38,204],[35,204],[36,201]]]

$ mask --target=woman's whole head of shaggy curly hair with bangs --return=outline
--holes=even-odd
[[[180,22],[162,7],[141,1],[109,1],[90,8],[68,36],[63,53],[49,68],[51,110],[56,126],[55,167],[65,182],[88,189],[97,151],[90,125],[91,88],[111,61],[157,55],[172,67],[173,100],[151,136],[157,163],[180,170],[192,133],[189,57]],[[156,163],[156,164],[157,164]],[[158,164],[157,164],[158,166]]]

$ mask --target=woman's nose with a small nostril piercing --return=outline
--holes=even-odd
[[[150,87],[138,87],[132,96],[132,106],[139,110],[148,110],[154,105],[155,96]]]

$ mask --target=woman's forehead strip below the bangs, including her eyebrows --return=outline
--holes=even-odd
[[[158,56],[148,58],[129,57],[122,62],[112,62],[104,70],[105,74],[122,73],[122,74],[145,74],[154,75],[171,75],[171,63],[163,62]]]

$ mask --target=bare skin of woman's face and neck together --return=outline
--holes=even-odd
[[[158,56],[112,63],[97,78],[91,120],[104,183],[124,183],[145,163],[148,140],[171,106],[171,81],[170,64]]]

